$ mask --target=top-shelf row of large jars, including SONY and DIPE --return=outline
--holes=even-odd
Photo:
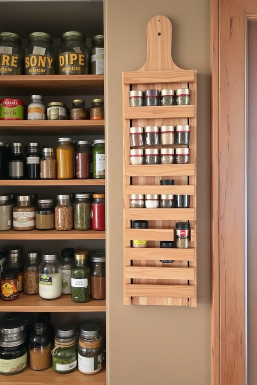
[[[84,75],[104,74],[104,37],[96,35],[86,45],[84,33],[64,32],[58,55],[49,33],[32,32],[24,50],[19,35],[0,33],[0,75]]]

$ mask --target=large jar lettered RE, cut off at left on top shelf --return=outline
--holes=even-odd
[[[22,75],[24,53],[22,40],[16,33],[0,33],[0,75]]]

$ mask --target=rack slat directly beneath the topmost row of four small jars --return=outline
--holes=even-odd
[[[175,119],[195,117],[195,105],[124,107],[124,119]]]

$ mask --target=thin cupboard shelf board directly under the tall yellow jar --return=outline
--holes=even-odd
[[[0,186],[104,186],[105,179],[23,179],[0,180]]]

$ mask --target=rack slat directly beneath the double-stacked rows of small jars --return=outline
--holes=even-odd
[[[195,164],[131,164],[124,166],[124,176],[193,176]],[[147,186],[144,186],[147,187]],[[164,186],[163,186],[164,187]],[[170,186],[172,187],[172,186]]]

